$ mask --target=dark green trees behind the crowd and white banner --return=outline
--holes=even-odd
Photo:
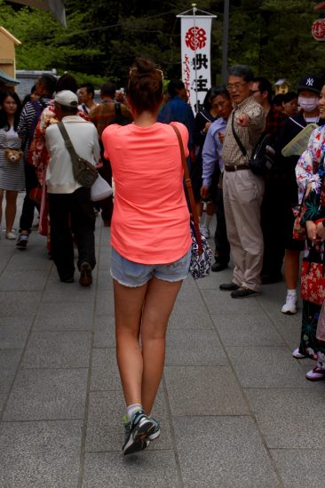
[[[231,0],[228,65],[248,64],[256,75],[274,83],[286,77],[321,73],[325,44],[313,40],[317,2],[310,0]],[[0,25],[21,41],[18,69],[69,71],[78,81],[104,80],[125,85],[137,56],[155,60],[166,76],[180,76],[179,12],[183,1],[67,0],[67,28],[50,12],[0,0]],[[223,0],[202,0],[197,7],[218,15],[212,21],[213,83],[221,80]],[[190,4],[188,5],[190,8]],[[187,10],[187,9],[186,9]]]

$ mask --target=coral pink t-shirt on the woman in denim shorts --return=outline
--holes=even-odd
[[[178,127],[188,154],[188,132]],[[190,248],[189,212],[178,139],[169,124],[108,125],[104,157],[112,165],[115,203],[111,244],[143,264],[178,260]]]

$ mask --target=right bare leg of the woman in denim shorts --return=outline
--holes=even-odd
[[[163,375],[166,330],[182,281],[153,278],[147,288],[142,314],[142,406],[150,414]]]

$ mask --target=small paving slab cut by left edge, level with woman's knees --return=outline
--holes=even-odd
[[[32,323],[30,316],[0,318],[0,349],[24,348]]]

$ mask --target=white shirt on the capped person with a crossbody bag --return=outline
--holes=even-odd
[[[80,116],[65,116],[62,122],[77,155],[91,164],[98,163],[100,149],[95,125]],[[71,157],[57,124],[46,129],[45,140],[50,154],[50,164],[46,170],[48,193],[73,193],[81,185],[75,180]]]

